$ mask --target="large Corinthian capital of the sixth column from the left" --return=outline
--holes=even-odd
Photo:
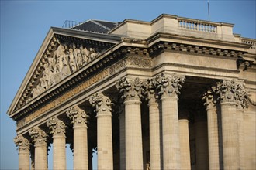
[[[140,100],[144,93],[144,83],[138,77],[135,80],[123,77],[116,81],[116,88],[124,100]]]

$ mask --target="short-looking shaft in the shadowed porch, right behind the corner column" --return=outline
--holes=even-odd
[[[189,121],[187,119],[178,120],[179,124],[179,141],[181,148],[181,169],[189,170],[190,150],[189,150]]]

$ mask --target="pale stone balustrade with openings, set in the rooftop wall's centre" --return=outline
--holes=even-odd
[[[199,32],[217,33],[217,26],[207,22],[178,19],[178,27]]]

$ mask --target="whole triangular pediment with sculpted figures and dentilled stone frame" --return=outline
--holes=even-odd
[[[62,80],[78,72],[119,42],[119,37],[51,28],[12,101],[9,115],[22,110]]]

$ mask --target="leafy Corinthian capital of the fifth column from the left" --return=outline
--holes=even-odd
[[[92,104],[92,107],[95,107],[95,112],[97,112],[97,115],[111,114],[111,100],[109,97],[104,96],[103,93],[95,93],[92,95],[92,97],[90,97],[89,102]]]

